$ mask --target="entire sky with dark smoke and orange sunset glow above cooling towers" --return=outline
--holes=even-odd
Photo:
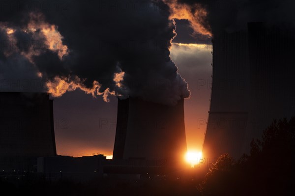
[[[112,154],[117,97],[185,98],[187,146],[201,151],[210,40],[253,21],[294,26],[292,1],[266,2],[1,1],[0,91],[52,93],[57,151],[72,156]]]

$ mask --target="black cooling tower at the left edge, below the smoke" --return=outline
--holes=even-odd
[[[0,92],[0,169],[32,170],[37,157],[55,155],[49,94]]]

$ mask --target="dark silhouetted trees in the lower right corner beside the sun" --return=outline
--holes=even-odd
[[[295,193],[295,118],[274,120],[250,155],[235,161],[220,156],[199,190],[204,196],[293,196]]]

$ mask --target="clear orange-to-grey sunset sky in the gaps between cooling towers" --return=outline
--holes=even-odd
[[[173,44],[171,58],[176,63],[178,72],[188,82],[191,91],[191,97],[184,101],[187,147],[188,150],[201,151],[211,92],[211,46],[197,42],[180,46]],[[117,98],[110,99],[110,102],[104,102],[102,97],[92,98],[81,90],[55,98],[58,154],[113,154]]]

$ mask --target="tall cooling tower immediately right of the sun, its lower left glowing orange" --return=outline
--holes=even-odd
[[[203,156],[239,156],[246,135],[249,99],[247,33],[215,34],[210,111]]]

